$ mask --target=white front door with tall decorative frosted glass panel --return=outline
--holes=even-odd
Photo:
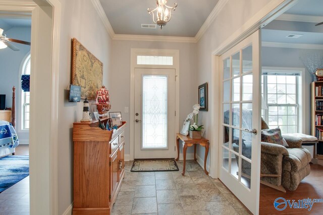
[[[134,158],[175,157],[175,69],[135,68]]]

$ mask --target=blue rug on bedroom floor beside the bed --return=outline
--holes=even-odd
[[[0,158],[0,193],[29,175],[29,156]]]

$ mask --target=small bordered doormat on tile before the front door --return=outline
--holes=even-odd
[[[175,160],[134,160],[131,172],[178,171]]]

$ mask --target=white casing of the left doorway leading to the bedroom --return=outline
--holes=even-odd
[[[35,4],[35,3],[36,4]],[[34,2],[0,1],[0,11],[23,12],[31,15],[31,121],[29,168],[30,168],[30,214],[58,214],[58,78],[61,3],[59,0],[34,0]],[[52,17],[48,18],[46,12]],[[43,20],[51,19],[51,26]],[[43,35],[43,32],[49,34]],[[44,36],[44,37],[43,37]],[[49,42],[51,51],[41,53],[39,42]],[[37,59],[37,60],[36,60]],[[49,70],[42,70],[44,62],[51,62]],[[44,74],[47,79],[42,79]],[[48,86],[50,88],[48,89]],[[41,97],[40,89],[49,95]],[[44,105],[46,108],[44,108]],[[43,120],[48,119],[47,123]],[[47,126],[44,126],[47,125]],[[38,132],[44,131],[44,132]],[[49,134],[49,135],[48,135]]]

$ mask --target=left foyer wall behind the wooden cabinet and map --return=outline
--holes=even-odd
[[[112,42],[91,1],[61,0],[61,44],[59,78],[58,180],[59,214],[73,202],[73,122],[82,118],[81,103],[69,103],[71,83],[71,39],[77,38],[103,63],[103,84],[111,66]]]

